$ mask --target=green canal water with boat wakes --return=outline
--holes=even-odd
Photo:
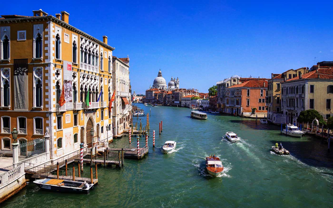
[[[99,166],[99,184],[89,195],[45,192],[31,182],[1,207],[333,207],[333,152],[321,139],[281,135],[279,126],[256,125],[254,119],[208,113],[207,120],[197,120],[188,108],[137,105],[146,113],[151,109],[156,130],[156,147],[151,132],[144,159],[126,159],[122,169]],[[226,131],[241,142],[222,138]],[[166,140],[177,142],[170,154],[161,152]],[[291,155],[270,151],[275,142]],[[205,170],[209,154],[222,160],[219,177]]]

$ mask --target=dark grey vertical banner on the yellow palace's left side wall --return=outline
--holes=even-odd
[[[28,110],[28,59],[14,59],[14,109]]]

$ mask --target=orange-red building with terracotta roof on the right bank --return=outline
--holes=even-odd
[[[249,80],[232,85],[225,91],[224,112],[237,115],[267,114],[266,92],[266,80]]]

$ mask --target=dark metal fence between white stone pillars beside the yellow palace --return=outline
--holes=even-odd
[[[45,153],[45,138],[34,139],[28,142],[20,141],[19,161]]]

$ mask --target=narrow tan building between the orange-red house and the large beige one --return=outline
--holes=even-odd
[[[282,74],[271,74],[271,79],[268,80],[268,95],[266,97],[267,103],[267,119],[273,123],[281,123],[285,121],[285,116],[281,114],[281,82],[284,79],[292,79],[298,76],[298,73],[304,75],[308,72],[306,67],[296,70],[290,69]]]

